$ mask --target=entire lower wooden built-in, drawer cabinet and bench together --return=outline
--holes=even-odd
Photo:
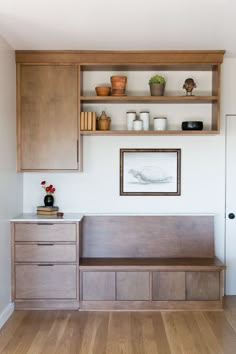
[[[221,309],[224,269],[212,216],[12,222],[19,309]]]

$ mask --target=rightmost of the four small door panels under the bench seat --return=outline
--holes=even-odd
[[[219,300],[220,273],[187,272],[186,296],[187,300]]]

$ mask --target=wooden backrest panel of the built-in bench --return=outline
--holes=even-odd
[[[82,255],[214,257],[213,216],[85,216]]]

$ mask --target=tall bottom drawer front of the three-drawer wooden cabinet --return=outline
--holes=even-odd
[[[16,299],[76,299],[76,265],[15,266]]]

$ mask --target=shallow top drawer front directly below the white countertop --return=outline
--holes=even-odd
[[[15,241],[76,241],[76,224],[16,223]]]

